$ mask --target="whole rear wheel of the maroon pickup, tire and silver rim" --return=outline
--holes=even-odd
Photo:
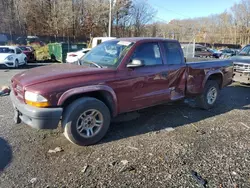
[[[214,106],[219,96],[219,84],[216,80],[208,80],[203,93],[197,98],[200,108],[205,110]]]

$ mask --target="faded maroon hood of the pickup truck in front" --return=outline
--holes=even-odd
[[[38,68],[33,68],[15,75],[12,79],[27,87],[33,84],[39,84],[51,80],[59,80],[65,78],[74,79],[77,76],[85,76],[90,74],[99,74],[101,72],[110,72],[114,69],[95,68],[89,66],[80,66],[74,64],[54,64]]]

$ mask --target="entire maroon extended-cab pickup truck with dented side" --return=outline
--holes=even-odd
[[[211,108],[230,84],[229,60],[185,63],[178,41],[121,38],[96,46],[80,65],[57,64],[15,75],[11,100],[15,122],[55,129],[78,145],[98,142],[111,118],[142,108],[197,97]]]

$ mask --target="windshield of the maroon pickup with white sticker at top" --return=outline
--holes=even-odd
[[[90,50],[81,60],[83,64],[97,64],[100,67],[117,67],[120,59],[133,45],[127,41],[107,41]]]

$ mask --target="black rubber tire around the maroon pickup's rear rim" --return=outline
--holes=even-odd
[[[216,90],[216,97],[215,97],[215,100],[212,102],[210,101],[210,103],[208,102],[208,93],[210,91],[210,89],[215,89]],[[205,85],[205,88],[204,88],[204,91],[203,93],[197,97],[196,101],[198,103],[198,106],[202,109],[205,109],[205,110],[208,110],[210,108],[212,108],[217,99],[218,99],[218,96],[219,96],[219,84],[216,80],[208,80],[206,85]]]

